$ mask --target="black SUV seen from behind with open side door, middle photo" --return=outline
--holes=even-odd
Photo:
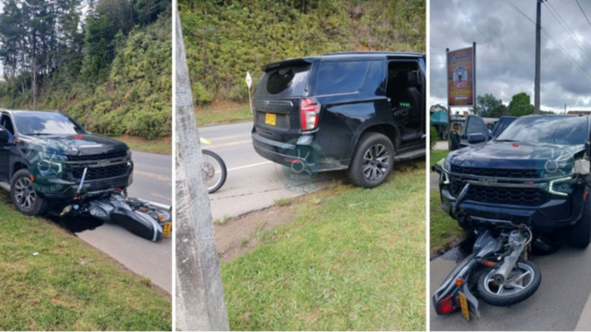
[[[262,70],[252,129],[262,157],[314,172],[348,169],[371,188],[395,160],[425,155],[424,54],[330,53]]]

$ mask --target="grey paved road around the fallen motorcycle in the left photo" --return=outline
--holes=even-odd
[[[172,204],[171,156],[134,151],[133,158],[134,184],[129,187],[129,195]],[[154,243],[111,223],[78,233],[78,236],[95,248],[108,253],[135,273],[150,278],[152,283],[172,294],[171,239]]]

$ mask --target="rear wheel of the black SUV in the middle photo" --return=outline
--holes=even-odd
[[[384,162],[385,153],[388,157],[387,162]],[[348,170],[349,179],[359,187],[377,187],[384,183],[392,172],[394,155],[394,145],[388,136],[377,132],[363,134],[353,152]],[[378,159],[380,156],[381,160]]]

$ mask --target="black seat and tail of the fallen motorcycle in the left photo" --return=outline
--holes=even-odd
[[[152,242],[162,240],[162,227],[145,213],[116,207],[111,211],[111,219],[139,237]]]

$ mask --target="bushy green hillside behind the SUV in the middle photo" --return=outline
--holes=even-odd
[[[248,100],[261,66],[332,51],[425,50],[424,0],[180,0],[197,105]]]

